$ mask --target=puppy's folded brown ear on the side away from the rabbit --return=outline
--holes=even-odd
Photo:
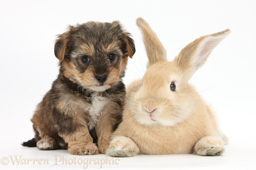
[[[66,50],[67,50],[67,43],[69,42],[69,37],[70,37],[70,32],[64,32],[61,35],[58,35],[58,38],[55,41],[55,46],[54,46],[54,54],[56,58],[59,59],[59,61],[63,61]]]

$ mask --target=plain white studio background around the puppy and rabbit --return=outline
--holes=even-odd
[[[133,35],[136,53],[127,65],[125,84],[146,70],[146,53],[135,24],[143,17],[157,33],[172,60],[188,43],[202,35],[230,28],[207,63],[190,82],[216,111],[219,126],[230,143],[222,156],[138,155],[120,158],[108,168],[254,169],[256,167],[256,2],[253,0],[0,0],[0,168],[71,168],[54,165],[54,156],[106,158],[106,155],[75,156],[67,150],[40,151],[21,147],[34,136],[35,106],[51,88],[58,74],[54,56],[56,35],[67,25],[87,21],[119,20]],[[13,165],[9,156],[49,159],[49,165]],[[7,157],[9,164],[4,166]],[[90,168],[99,169],[93,163]]]

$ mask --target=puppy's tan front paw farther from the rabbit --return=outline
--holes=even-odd
[[[95,155],[98,154],[98,147],[94,143],[74,144],[68,148],[72,155]]]

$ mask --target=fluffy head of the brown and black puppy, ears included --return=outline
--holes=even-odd
[[[118,21],[69,26],[59,35],[55,56],[65,77],[94,91],[105,91],[124,76],[135,45]]]

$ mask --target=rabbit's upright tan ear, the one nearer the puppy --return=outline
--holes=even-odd
[[[143,18],[137,18],[136,24],[143,35],[144,46],[149,58],[147,68],[156,62],[167,61],[166,49],[164,49],[164,46],[149,24]]]

